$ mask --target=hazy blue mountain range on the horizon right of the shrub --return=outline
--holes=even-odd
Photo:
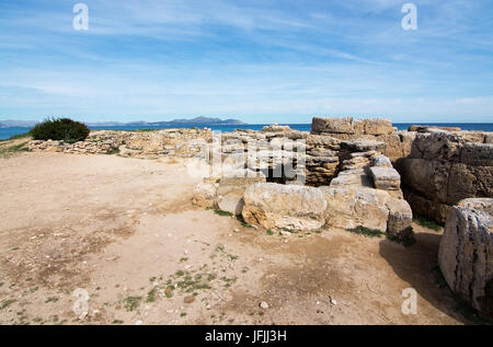
[[[88,123],[88,126],[92,127],[115,127],[115,126],[152,126],[152,127],[172,127],[172,126],[218,126],[218,125],[244,125],[243,122],[238,119],[220,119],[220,118],[208,118],[208,117],[196,117],[192,119],[173,119],[163,122],[130,122],[130,123],[117,123],[117,122],[105,122],[105,123]]]

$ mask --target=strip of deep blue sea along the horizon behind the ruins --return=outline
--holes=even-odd
[[[183,126],[114,126],[114,127],[90,127],[92,130],[147,130],[147,129],[175,129],[175,128],[210,128],[214,131],[233,131],[236,129],[251,129],[251,130],[262,130],[263,127],[268,124],[249,124],[249,125],[219,125],[219,126],[208,126],[208,125],[194,125],[187,124]],[[310,131],[311,124],[280,124],[288,125],[291,129]],[[440,127],[459,127],[462,130],[482,130],[482,131],[493,131],[493,123],[394,123],[393,126],[399,130],[406,130],[411,125],[426,125],[426,126],[440,126]],[[5,140],[12,136],[22,135],[30,131],[30,128],[24,127],[10,127],[0,128],[0,140]]]

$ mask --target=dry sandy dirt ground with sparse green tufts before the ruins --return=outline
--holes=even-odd
[[[0,159],[0,324],[471,323],[437,275],[439,232],[268,234],[194,207],[196,183],[184,160]]]

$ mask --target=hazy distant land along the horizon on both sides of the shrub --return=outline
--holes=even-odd
[[[0,123],[0,128],[31,128],[36,125],[36,120],[2,120]],[[89,127],[140,127],[140,126],[151,126],[151,127],[172,127],[172,126],[225,126],[225,125],[245,125],[245,123],[238,119],[220,119],[220,118],[209,118],[209,117],[195,117],[192,119],[173,119],[173,120],[162,120],[162,122],[96,122],[89,123],[84,122]]]

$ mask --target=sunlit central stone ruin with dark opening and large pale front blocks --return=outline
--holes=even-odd
[[[311,134],[277,125],[222,134],[218,139],[222,170],[195,187],[194,203],[241,215],[265,229],[366,227],[412,239],[413,215],[403,198],[400,174],[385,155],[386,143],[379,141],[379,136],[397,131],[389,124],[359,122],[356,134],[351,118],[325,123],[314,118]],[[345,136],[337,138],[329,131]],[[400,138],[399,151],[405,146],[410,151],[411,143]],[[265,159],[264,165],[259,165],[259,159]],[[283,169],[282,175],[273,176],[286,161],[290,163],[287,171],[301,176]],[[233,177],[228,177],[228,170]]]

